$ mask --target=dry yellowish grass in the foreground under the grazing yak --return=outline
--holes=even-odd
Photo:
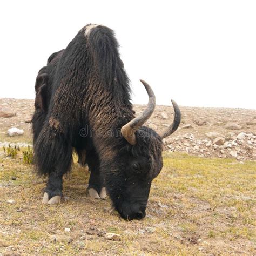
[[[77,164],[65,177],[62,204],[42,205],[45,181],[19,158],[21,153],[12,159],[0,151],[0,253],[255,253],[255,161],[165,153],[147,218],[125,221],[109,198],[87,196],[89,174]],[[9,199],[15,203],[7,203]],[[64,233],[66,227],[70,233]],[[122,240],[106,240],[106,232],[118,233]]]

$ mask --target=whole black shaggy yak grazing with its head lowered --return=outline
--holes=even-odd
[[[145,217],[151,182],[163,167],[163,138],[177,130],[180,110],[172,101],[174,120],[161,134],[143,126],[156,99],[140,81],[149,103],[135,117],[117,40],[103,25],[84,26],[49,57],[36,78],[32,118],[35,169],[48,177],[44,204],[60,202],[75,149],[89,167],[91,197],[103,199],[107,192],[123,218]]]

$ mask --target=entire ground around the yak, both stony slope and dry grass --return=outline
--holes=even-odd
[[[23,153],[33,100],[0,99],[0,255],[256,255],[256,110],[180,109],[146,218],[125,221],[108,196],[89,197],[75,154],[61,203],[41,204],[46,179]],[[172,107],[158,105],[146,125],[161,131],[172,119]],[[11,127],[24,133],[11,137]],[[9,144],[17,155],[4,152]]]

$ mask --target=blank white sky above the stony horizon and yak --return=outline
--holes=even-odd
[[[0,97],[34,98],[51,53],[87,23],[116,31],[134,103],[256,109],[256,1],[1,1]]]

